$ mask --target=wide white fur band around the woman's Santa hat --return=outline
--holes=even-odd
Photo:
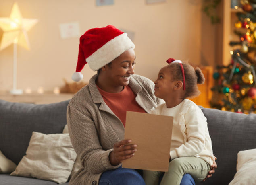
[[[92,70],[96,71],[130,48],[134,49],[135,45],[131,39],[129,39],[127,33],[123,33],[114,37],[114,39],[108,41],[97,51],[92,53],[92,55],[86,58],[86,62]]]

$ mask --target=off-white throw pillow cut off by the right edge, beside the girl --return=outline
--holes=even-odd
[[[256,149],[240,151],[237,154],[237,173],[229,185],[256,184]]]

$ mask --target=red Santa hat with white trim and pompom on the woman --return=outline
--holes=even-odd
[[[80,37],[76,72],[72,79],[76,82],[83,79],[81,70],[85,64],[97,71],[123,52],[135,45],[124,33],[112,25],[103,28],[92,28]]]

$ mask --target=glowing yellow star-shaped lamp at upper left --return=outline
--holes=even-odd
[[[12,6],[10,17],[0,17],[0,28],[3,30],[0,51],[11,45],[14,41],[17,41],[17,44],[25,49],[29,49],[27,31],[36,23],[37,19],[22,18],[19,6],[15,3]]]

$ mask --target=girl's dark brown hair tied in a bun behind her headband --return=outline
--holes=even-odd
[[[185,73],[185,97],[195,97],[200,94],[196,84],[204,83],[204,74],[200,68],[196,67],[195,69],[188,63],[182,62],[184,73]],[[172,62],[169,64],[173,80],[180,80],[183,82],[183,76],[181,71],[181,66],[178,62]],[[184,83],[184,82],[183,82]]]

